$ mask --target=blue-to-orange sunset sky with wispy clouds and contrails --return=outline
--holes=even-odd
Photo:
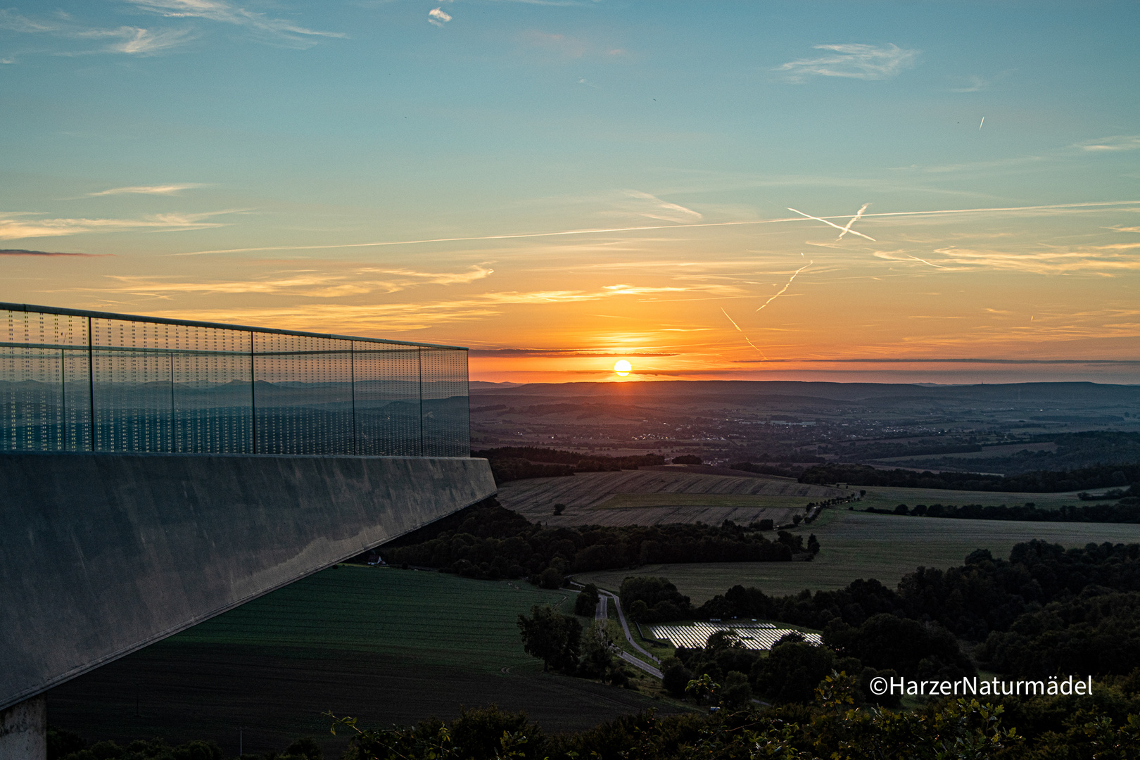
[[[7,1],[0,301],[491,382],[1140,383],[1134,0]]]

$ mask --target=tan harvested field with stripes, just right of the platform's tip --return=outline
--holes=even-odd
[[[808,501],[848,493],[789,477],[660,468],[512,481],[499,487],[498,500],[544,525],[712,525],[725,520],[747,525],[765,518],[791,522]],[[565,512],[555,516],[555,504],[564,504]]]

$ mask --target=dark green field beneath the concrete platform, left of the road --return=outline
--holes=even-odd
[[[451,718],[461,704],[527,710],[547,730],[586,728],[658,706],[635,692],[545,675],[515,626],[572,594],[526,582],[343,566],[317,573],[48,693],[52,725],[90,739],[211,738],[237,754],[314,736],[320,713],[364,726]],[[136,698],[141,717],[136,717]]]

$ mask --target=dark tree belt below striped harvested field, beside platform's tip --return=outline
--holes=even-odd
[[[768,521],[771,530],[771,521]],[[764,525],[673,523],[665,525],[544,528],[494,499],[469,507],[389,547],[389,564],[438,567],[469,578],[529,578],[557,588],[567,573],[634,567],[648,563],[789,562],[809,558],[819,541]]]

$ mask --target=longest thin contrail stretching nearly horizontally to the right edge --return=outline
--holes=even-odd
[[[1096,201],[1089,203],[1057,203],[1043,206],[1002,206],[994,209],[944,209],[939,211],[889,211],[876,214],[863,214],[864,219],[870,219],[872,216],[933,216],[936,214],[972,214],[982,212],[994,212],[994,211],[1043,211],[1048,209],[1085,209],[1093,206],[1133,206],[1140,205],[1140,201]],[[793,209],[790,211],[795,211]],[[606,229],[577,229],[577,230],[562,230],[556,232],[522,232],[518,235],[483,235],[483,236],[472,236],[472,237],[438,237],[438,238],[425,238],[422,240],[380,240],[376,243],[337,243],[337,244],[326,244],[326,245],[267,245],[255,248],[218,248],[213,251],[187,251],[185,253],[168,253],[168,256],[196,256],[205,253],[253,253],[258,251],[320,251],[325,248],[367,248],[373,246],[383,245],[418,245],[423,243],[463,243],[471,240],[510,240],[519,238],[532,238],[532,237],[560,237],[568,235],[598,235],[605,232],[636,232],[640,230],[656,230],[656,229],[690,229],[697,227],[741,227],[746,224],[779,224],[783,222],[801,222],[804,218],[814,219],[815,221],[821,221],[826,224],[831,224],[836,229],[842,231],[842,227],[839,224],[833,224],[828,221],[825,216],[812,216],[811,214],[805,214],[800,211],[796,212],[799,216],[787,216],[782,219],[752,219],[747,221],[734,221],[734,222],[693,222],[687,224],[652,224],[645,227],[613,227]],[[831,216],[831,219],[844,219],[847,214],[841,214],[838,216]],[[862,232],[856,230],[848,230],[860,235],[862,237],[868,237]],[[874,238],[868,237],[869,240]]]

